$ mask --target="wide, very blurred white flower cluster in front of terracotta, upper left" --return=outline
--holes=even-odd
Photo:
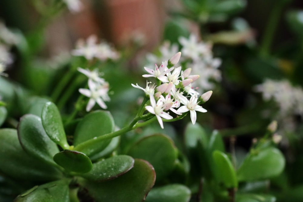
[[[77,41],[76,49],[72,50],[72,55],[84,56],[87,60],[97,58],[101,61],[108,59],[116,60],[119,58],[118,52],[112,48],[108,43],[97,43],[96,35],[91,35],[86,42],[83,39]]]

